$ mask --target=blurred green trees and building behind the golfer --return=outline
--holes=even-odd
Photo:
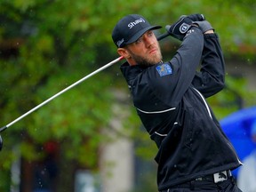
[[[222,120],[256,105],[254,0],[1,0],[0,127],[116,59],[112,29],[129,13],[163,27],[203,13],[227,65],[226,88],[208,100],[213,111]],[[168,60],[180,42],[160,44]],[[0,191],[157,191],[156,146],[132,108],[121,64],[1,132]]]

